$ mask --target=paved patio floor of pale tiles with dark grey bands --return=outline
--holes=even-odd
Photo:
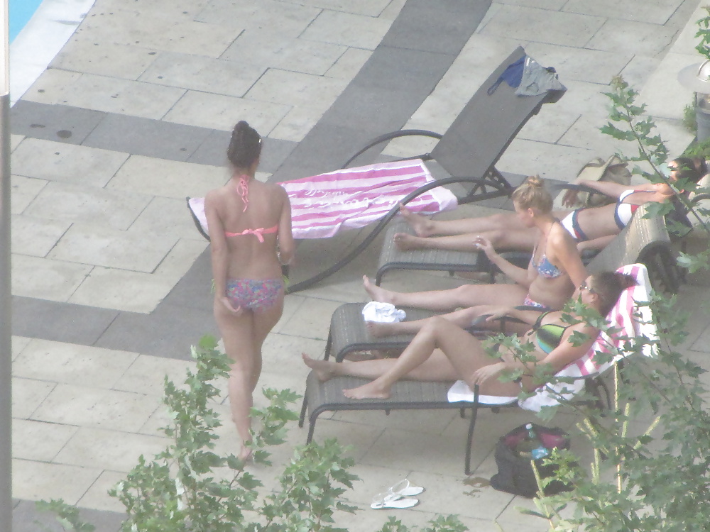
[[[96,0],[29,89],[13,94],[13,497],[16,532],[35,530],[33,501],[62,498],[86,509],[98,532],[116,532],[122,506],[107,495],[168,443],[158,427],[163,377],[182,380],[190,345],[218,335],[207,243],[185,196],[229,178],[226,143],[236,121],[264,137],[259,179],[334,170],[356,144],[386,131],[443,132],[518,45],[554,66],[568,88],[532,118],[497,165],[569,181],[592,157],[633,153],[599,132],[611,77],[640,91],[672,155],[691,142],[681,124],[692,93],[676,73],[700,61],[697,0]],[[422,153],[402,139],[381,157]],[[376,157],[372,155],[371,157]],[[479,216],[506,206],[459,207]],[[299,248],[294,279],[317,272],[354,233]],[[701,245],[706,245],[701,243]],[[337,275],[286,297],[264,346],[260,386],[302,393],[300,353],[321,355],[330,316],[366,301],[378,243]],[[464,282],[407,272],[388,287]],[[709,352],[709,283],[694,277],[679,309],[694,311],[687,355]],[[224,386],[226,383],[222,383]],[[263,399],[257,397],[263,404]],[[298,405],[295,405],[297,408]],[[219,448],[236,450],[226,395]],[[519,409],[479,414],[470,477],[467,421],[454,411],[344,412],[321,416],[317,440],[352,445],[362,482],[347,497],[362,510],[339,516],[373,531],[389,514],[423,525],[459,514],[471,530],[542,531],[521,516],[532,502],[488,486],[493,446],[533,419]],[[577,419],[560,414],[555,425]],[[266,487],[306,430],[290,428]],[[574,442],[573,445],[581,445]],[[373,494],[409,477],[421,504],[372,511]]]

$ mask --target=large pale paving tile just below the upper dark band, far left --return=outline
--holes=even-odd
[[[35,179],[104,187],[128,157],[116,150],[25,138],[13,151],[12,171]]]

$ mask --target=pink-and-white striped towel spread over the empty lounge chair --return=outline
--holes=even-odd
[[[291,201],[294,238],[328,238],[342,228],[361,228],[385,216],[407,194],[434,178],[421,159],[383,162],[285,181]],[[191,198],[190,210],[205,233],[204,199]],[[407,204],[420,214],[457,206],[452,192],[437,187]]]

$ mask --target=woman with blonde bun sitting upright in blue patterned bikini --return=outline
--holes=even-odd
[[[534,306],[540,310],[562,309],[564,302],[586,278],[586,270],[572,237],[552,216],[552,197],[542,187],[540,177],[528,177],[513,192],[515,212],[520,224],[537,231],[537,245],[527,268],[508,262],[481,236],[476,247],[515,284],[464,284],[450,290],[432,292],[392,292],[373,285],[363,277],[365,289],[374,301],[395,306],[415,306],[432,311],[448,311],[444,317],[461,327],[468,327],[478,316],[496,305]],[[461,309],[461,310],[455,310]],[[427,320],[398,323],[368,323],[373,336],[416,333]]]

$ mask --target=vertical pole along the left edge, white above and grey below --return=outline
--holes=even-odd
[[[10,277],[10,43],[0,0],[0,531],[12,532],[12,327]]]

